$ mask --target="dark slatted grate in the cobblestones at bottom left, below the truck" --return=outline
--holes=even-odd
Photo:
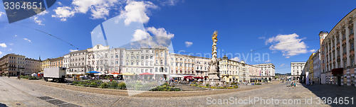
[[[78,105],[75,105],[73,103],[67,103],[66,101],[61,101],[49,96],[40,96],[37,97],[40,98],[43,101],[47,101],[48,103],[52,103],[53,105],[60,106],[60,107],[80,107]]]

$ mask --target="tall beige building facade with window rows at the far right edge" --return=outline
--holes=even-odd
[[[328,32],[320,32],[322,77],[326,84],[355,86],[356,9]]]

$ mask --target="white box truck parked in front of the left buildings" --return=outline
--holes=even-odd
[[[66,78],[66,68],[64,67],[51,67],[43,69],[43,79],[48,81],[48,79],[52,79],[52,81],[61,82]]]

